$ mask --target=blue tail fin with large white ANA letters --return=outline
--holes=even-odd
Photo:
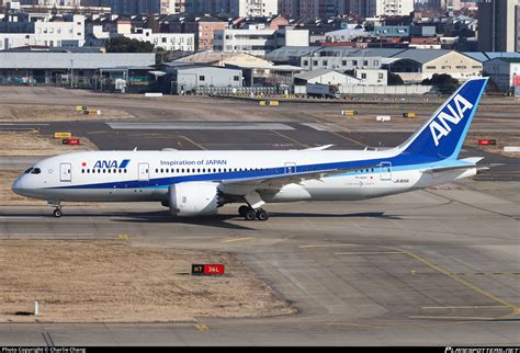
[[[459,157],[487,78],[462,84],[411,137],[398,147],[405,155],[440,159]]]

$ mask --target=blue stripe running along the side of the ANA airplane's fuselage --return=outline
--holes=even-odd
[[[169,187],[172,184],[178,184],[182,182],[191,181],[208,181],[208,182],[221,182],[221,181],[233,181],[233,180],[245,180],[245,181],[255,181],[256,179],[262,180],[264,178],[283,176],[283,175],[297,175],[309,173],[313,170],[314,172],[335,170],[335,169],[366,169],[374,168],[381,162],[391,162],[393,171],[400,170],[414,170],[414,169],[428,169],[431,167],[448,167],[448,166],[464,166],[467,164],[462,161],[440,159],[434,156],[407,156],[398,155],[384,159],[371,159],[371,160],[357,160],[357,161],[342,161],[342,162],[332,162],[332,163],[321,163],[321,164],[305,164],[296,166],[295,173],[285,173],[285,167],[274,167],[269,168],[268,171],[240,171],[240,172],[223,172],[223,173],[212,173],[212,174],[195,174],[195,175],[181,175],[181,176],[169,176],[169,178],[158,178],[150,179],[149,181],[138,181],[138,180],[128,180],[128,181],[117,181],[117,182],[108,182],[108,183],[97,183],[97,184],[83,184],[83,185],[71,185],[71,186],[57,186],[49,189],[161,189]],[[275,172],[273,170],[278,170]],[[349,175],[354,174],[355,172],[347,172],[338,174]],[[334,175],[336,176],[336,175]]]

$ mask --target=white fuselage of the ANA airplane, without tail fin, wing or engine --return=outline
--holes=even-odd
[[[163,202],[169,186],[181,182],[221,183],[226,195],[247,192],[240,183],[265,175],[295,175],[280,186],[257,189],[267,203],[295,201],[354,201],[407,192],[476,173],[474,167],[442,173],[425,173],[439,162],[396,162],[395,149],[373,151],[92,151],[45,159],[21,175],[13,189],[25,196],[53,202]],[[348,168],[344,173],[297,180],[297,173]],[[330,168],[329,168],[330,167]],[[355,169],[355,170],[353,170]]]

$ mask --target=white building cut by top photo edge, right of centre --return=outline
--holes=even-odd
[[[351,0],[350,11],[361,18],[409,15],[414,0]]]

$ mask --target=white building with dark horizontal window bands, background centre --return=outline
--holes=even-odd
[[[276,35],[279,34],[279,35]],[[308,30],[265,29],[264,25],[249,25],[247,29],[215,31],[213,47],[217,52],[248,53],[264,56],[283,46],[308,46]]]

